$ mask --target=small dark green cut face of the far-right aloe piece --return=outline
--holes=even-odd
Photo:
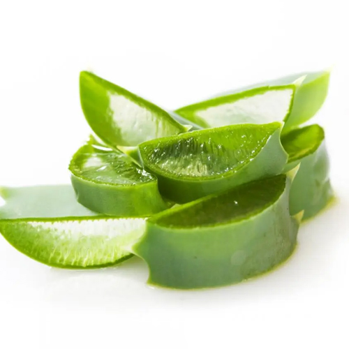
[[[297,128],[281,137],[283,148],[288,153],[288,163],[313,154],[325,139],[323,129],[318,125]]]

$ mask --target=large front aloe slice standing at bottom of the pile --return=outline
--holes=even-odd
[[[163,211],[132,248],[149,266],[149,283],[207,288],[267,272],[295,248],[299,216],[288,210],[285,174],[243,184]]]

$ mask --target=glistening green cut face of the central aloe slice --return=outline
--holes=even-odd
[[[236,172],[258,155],[280,124],[236,125],[184,133],[140,144],[149,168],[173,177],[212,177]]]

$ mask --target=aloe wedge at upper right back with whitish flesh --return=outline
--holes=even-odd
[[[299,73],[228,91],[175,112],[202,127],[285,121],[287,131],[318,112],[328,84],[328,70]]]

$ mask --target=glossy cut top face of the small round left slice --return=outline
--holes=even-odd
[[[96,144],[86,144],[77,151],[70,171],[77,177],[101,184],[135,185],[156,180],[121,151]]]

